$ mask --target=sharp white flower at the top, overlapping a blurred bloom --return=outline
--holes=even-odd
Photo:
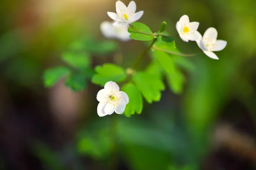
[[[116,21],[113,23],[115,26],[125,26],[129,25],[137,20],[139,20],[144,11],[136,12],[136,3],[131,1],[128,7],[125,6],[120,0],[116,2],[116,13],[108,12],[108,16]]]

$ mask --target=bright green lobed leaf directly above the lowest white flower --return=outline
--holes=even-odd
[[[95,67],[96,74],[93,75],[92,82],[104,86],[106,82],[122,82],[127,77],[125,69],[111,63]]]

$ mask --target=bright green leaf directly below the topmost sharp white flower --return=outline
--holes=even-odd
[[[130,38],[133,40],[150,41],[154,39],[154,34],[151,29],[143,23],[132,23],[132,27],[128,28],[128,32],[131,34]],[[143,34],[147,33],[147,34]],[[148,35],[149,34],[149,35]]]

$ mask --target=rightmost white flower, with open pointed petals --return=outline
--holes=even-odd
[[[216,54],[214,54],[212,51],[223,50],[227,45],[227,41],[217,40],[218,32],[212,27],[205,31],[203,37],[199,32],[196,34],[198,34],[199,37],[199,39],[196,40],[196,43],[198,44],[199,48],[203,50],[204,54],[212,59],[218,59]]]

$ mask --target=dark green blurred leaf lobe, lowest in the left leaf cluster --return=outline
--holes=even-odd
[[[87,79],[82,73],[73,73],[67,77],[65,84],[73,91],[82,91],[87,87]]]

